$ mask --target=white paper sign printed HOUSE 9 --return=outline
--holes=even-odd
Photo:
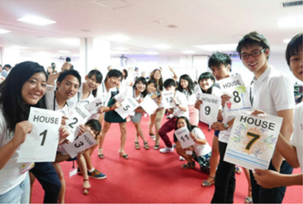
[[[203,104],[200,104],[200,121],[212,125],[218,118],[221,97],[205,93],[201,93],[200,97],[203,101]]]

